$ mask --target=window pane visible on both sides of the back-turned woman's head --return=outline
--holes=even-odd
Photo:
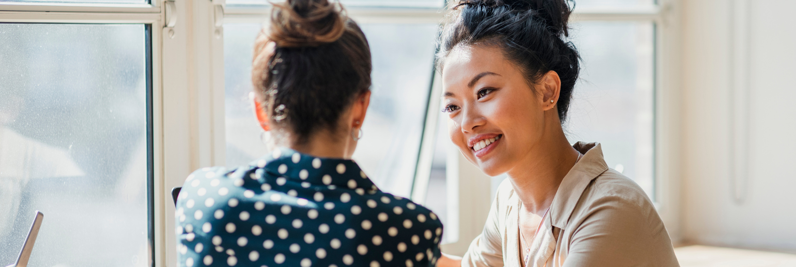
[[[409,196],[431,88],[435,24],[365,24],[373,53],[373,94],[353,159],[382,190]],[[259,24],[224,25],[227,165],[266,153],[248,92]]]

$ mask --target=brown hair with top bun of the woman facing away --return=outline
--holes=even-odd
[[[337,132],[341,114],[370,89],[373,65],[365,33],[338,1],[287,0],[274,6],[252,61],[257,100],[270,126],[280,130],[274,136],[306,143],[320,130]]]

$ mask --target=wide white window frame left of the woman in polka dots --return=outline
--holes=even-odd
[[[212,53],[214,45],[222,43],[213,36],[220,29],[215,26],[214,11],[223,3],[170,4],[174,9],[168,10],[174,12],[166,18],[168,5],[159,0],[150,4],[0,2],[0,22],[151,25],[154,255],[150,259],[158,267],[177,260],[171,188],[181,187],[191,171],[218,162],[212,142],[212,122],[218,120],[211,120],[217,109],[209,92],[221,92],[223,99],[223,91],[213,90],[223,88],[223,78],[213,82],[213,75],[202,75],[218,69],[223,73],[223,65],[218,64],[223,62],[223,53]],[[165,27],[168,21],[175,24]],[[223,107],[220,110],[223,119]],[[223,142],[220,145],[223,151]]]

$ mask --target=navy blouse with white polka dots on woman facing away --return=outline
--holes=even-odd
[[[434,266],[443,225],[384,193],[352,160],[281,148],[248,167],[185,180],[179,266]]]

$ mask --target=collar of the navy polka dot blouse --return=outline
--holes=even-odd
[[[320,158],[278,147],[252,165],[268,175],[284,177],[299,183],[348,188],[358,194],[375,193],[378,188],[352,159]]]

